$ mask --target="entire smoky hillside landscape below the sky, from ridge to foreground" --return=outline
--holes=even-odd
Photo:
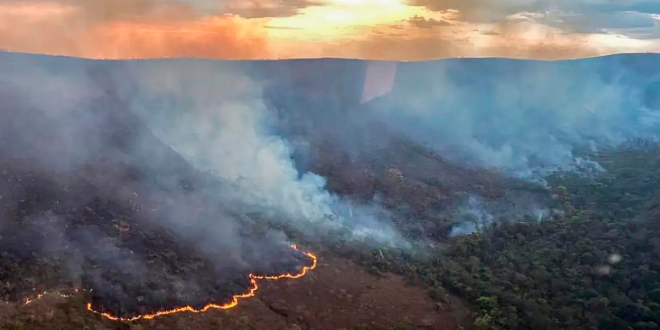
[[[652,329],[657,59],[0,53],[1,326]]]

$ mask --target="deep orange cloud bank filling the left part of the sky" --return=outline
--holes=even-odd
[[[255,58],[265,30],[241,18],[204,16],[153,0],[0,6],[0,49],[87,58]]]

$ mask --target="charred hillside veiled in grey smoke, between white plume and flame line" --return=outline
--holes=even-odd
[[[0,86],[3,300],[81,289],[93,310],[130,318],[229,304],[254,285],[248,274],[312,265],[218,205],[223,183],[153,135],[107,72],[88,70],[94,97],[53,112]],[[209,219],[238,237],[217,244],[201,231]]]

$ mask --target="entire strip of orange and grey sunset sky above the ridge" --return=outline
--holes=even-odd
[[[0,0],[0,49],[85,58],[660,52],[660,0]]]

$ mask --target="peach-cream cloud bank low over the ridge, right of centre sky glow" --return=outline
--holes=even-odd
[[[565,34],[556,28],[522,21],[504,22],[492,29],[462,24],[422,32],[426,33],[401,33],[388,26],[372,31],[364,39],[319,47],[323,48],[322,56],[411,61],[450,57],[557,60],[616,51],[615,47],[594,43],[590,35]]]

